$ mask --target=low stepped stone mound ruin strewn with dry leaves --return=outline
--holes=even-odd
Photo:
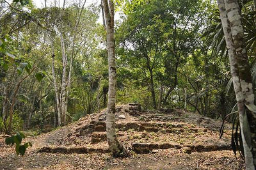
[[[85,116],[41,135],[38,151],[50,153],[108,153],[106,110]],[[230,132],[218,139],[221,122],[181,109],[143,111],[140,104],[116,107],[116,132],[136,153],[176,148],[184,153],[230,150]],[[230,125],[228,125],[230,128]],[[35,140],[36,140],[35,139]]]

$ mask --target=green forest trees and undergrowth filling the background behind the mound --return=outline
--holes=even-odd
[[[106,31],[100,7],[84,2],[37,8],[31,1],[0,1],[1,132],[47,131],[106,107]],[[235,111],[216,3],[119,3],[118,103],[178,107],[216,119]],[[239,5],[255,79],[255,10],[253,1]]]

